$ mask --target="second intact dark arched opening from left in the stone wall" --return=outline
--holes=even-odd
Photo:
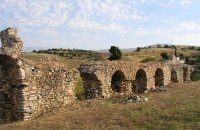
[[[147,75],[143,69],[139,69],[132,84],[135,93],[143,93],[147,90]]]

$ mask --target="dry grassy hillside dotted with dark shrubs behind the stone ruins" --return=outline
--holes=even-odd
[[[153,45],[146,48],[138,47],[136,50],[122,49],[122,60],[134,61],[134,62],[151,62],[162,60],[161,53],[166,52],[169,54],[175,53],[186,61],[186,64],[190,64],[195,67],[195,73],[200,78],[200,47],[197,46],[173,46],[173,45]],[[87,61],[103,61],[107,60],[110,56],[108,50],[103,51],[91,51],[81,49],[47,49],[47,50],[34,50],[34,53],[25,53],[25,56],[29,59],[37,60],[38,57],[55,57],[60,59],[61,62],[66,63],[71,67],[79,67],[81,63]]]

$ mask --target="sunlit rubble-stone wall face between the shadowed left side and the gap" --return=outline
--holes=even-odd
[[[23,89],[24,119],[31,119],[56,107],[70,104],[75,100],[74,83],[78,71],[54,61],[41,60],[33,63],[25,60],[27,87]]]

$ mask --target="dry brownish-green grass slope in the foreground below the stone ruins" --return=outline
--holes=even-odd
[[[171,84],[166,92],[143,96],[149,101],[77,101],[31,121],[0,125],[0,130],[200,129],[200,81]]]

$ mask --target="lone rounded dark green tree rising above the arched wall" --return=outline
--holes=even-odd
[[[116,46],[111,46],[109,49],[109,52],[111,53],[109,60],[119,60],[122,58],[121,50]]]

